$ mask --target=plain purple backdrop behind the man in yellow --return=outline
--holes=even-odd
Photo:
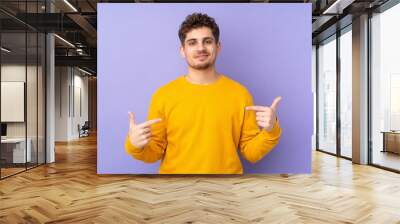
[[[158,173],[125,153],[128,111],[147,117],[160,86],[186,74],[178,29],[188,14],[207,13],[221,31],[217,71],[242,83],[254,103],[281,95],[280,143],[244,173],[310,173],[311,4],[98,4],[99,174]]]

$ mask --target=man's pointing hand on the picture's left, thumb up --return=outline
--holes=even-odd
[[[136,148],[143,149],[151,139],[151,125],[161,121],[161,118],[148,120],[141,124],[135,123],[135,115],[132,112],[129,114],[129,141]]]

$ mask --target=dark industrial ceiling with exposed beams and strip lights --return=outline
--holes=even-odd
[[[351,17],[373,10],[388,0],[198,0],[185,2],[252,2],[252,3],[312,3],[312,36],[317,43],[336,32],[337,27],[351,23]],[[172,3],[167,0],[1,0],[0,22],[2,43],[23,51],[23,33],[29,31],[55,32],[56,65],[80,66],[96,72],[97,3]],[[336,2],[336,3],[335,3]],[[328,9],[328,10],[327,10]],[[52,11],[52,13],[48,13]],[[325,13],[324,13],[325,12]],[[338,21],[341,21],[338,23]],[[339,25],[338,25],[339,24]],[[23,31],[23,33],[21,33]],[[29,39],[29,38],[28,38]],[[66,40],[63,41],[62,39]],[[72,45],[71,45],[72,44]],[[3,44],[4,46],[4,44]],[[28,44],[28,52],[35,43]],[[32,48],[32,49],[30,49]],[[21,52],[23,53],[23,52]]]

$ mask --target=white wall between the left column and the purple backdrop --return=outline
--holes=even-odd
[[[72,67],[56,67],[55,73],[55,141],[77,139],[78,124],[88,120],[88,77]]]

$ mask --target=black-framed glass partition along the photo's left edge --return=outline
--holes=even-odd
[[[0,12],[1,179],[45,162],[45,34],[16,19],[44,3],[0,2],[15,10]]]

